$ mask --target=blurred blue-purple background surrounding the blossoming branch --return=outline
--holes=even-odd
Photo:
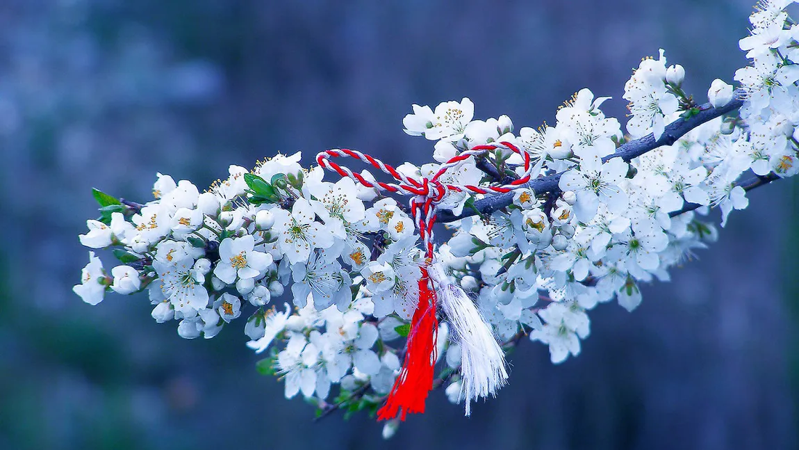
[[[496,400],[466,419],[434,392],[387,443],[367,416],[312,423],[256,374],[243,321],[183,340],[146,296],[71,292],[92,187],[147,200],[158,171],[205,186],[339,146],[421,164],[411,103],[464,96],[519,129],[588,86],[623,121],[624,82],[660,47],[704,102],[745,64],[753,1],[2,0],[0,449],[795,448],[792,181],[753,191],[632,315],[595,310],[578,358],[523,343]]]

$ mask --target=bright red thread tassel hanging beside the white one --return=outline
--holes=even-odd
[[[419,304],[411,319],[403,367],[400,376],[394,381],[392,392],[388,394],[386,404],[377,412],[377,420],[393,419],[400,410],[400,420],[405,420],[408,412],[424,412],[424,401],[433,388],[439,321],[435,317],[435,293],[427,285],[427,267],[423,266],[421,270]]]

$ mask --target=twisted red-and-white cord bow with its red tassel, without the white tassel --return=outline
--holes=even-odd
[[[491,150],[499,148],[510,149],[523,158],[524,172],[521,177],[511,181],[511,183],[499,186],[475,186],[452,185],[440,181],[440,178],[448,169],[458,168],[470,157],[482,156]],[[380,169],[381,172],[388,173],[396,182],[369,181],[360,173],[352,172],[347,167],[331,161],[332,158],[336,157],[356,158],[372,165],[376,169]],[[419,301],[411,318],[411,330],[407,337],[407,348],[400,376],[397,376],[392,392],[388,394],[386,404],[377,412],[379,420],[386,420],[396,417],[401,410],[402,415],[400,418],[405,420],[408,412],[424,412],[424,402],[427,400],[427,393],[433,387],[433,369],[438,358],[436,354],[438,319],[436,318],[435,291],[430,285],[430,276],[427,270],[433,262],[433,224],[435,224],[436,209],[443,199],[447,197],[447,193],[466,191],[480,194],[508,193],[523,187],[527,181],[530,181],[534,169],[533,165],[531,165],[530,154],[507,141],[499,142],[499,145],[477,145],[444,162],[439,166],[438,172],[432,177],[421,177],[419,179],[408,177],[406,174],[398,172],[391,165],[385,164],[383,161],[368,154],[350,149],[330,149],[320,152],[316,155],[316,162],[324,169],[332,170],[341,177],[350,177],[367,188],[413,196],[409,202],[411,214],[413,215],[415,227],[419,230],[419,237],[422,239],[425,254],[423,265],[420,268]],[[369,173],[369,175],[372,179],[376,179],[372,176],[372,173]]]

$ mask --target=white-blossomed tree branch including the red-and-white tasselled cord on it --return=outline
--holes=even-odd
[[[101,217],[81,244],[121,264],[89,252],[74,291],[91,305],[146,291],[153,318],[189,339],[246,317],[258,370],[319,416],[366,409],[390,435],[439,387],[468,415],[507,382],[508,347],[577,356],[590,310],[635,309],[642,283],[716,240],[711,209],[723,227],[746,191],[797,173],[791,3],[758,4],[740,42],[750,65],[737,90],[715,80],[709,103],[662,50],[642,60],[626,133],[587,89],[539,129],[475,120],[463,98],[403,120],[435,142],[434,163],[330,149],[305,168],[300,153],[232,165],[203,193],[159,173],[143,204],[95,189]]]

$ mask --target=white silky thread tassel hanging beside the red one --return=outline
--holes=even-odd
[[[471,401],[495,396],[507,382],[505,353],[494,333],[463,289],[453,284],[441,264],[431,265],[429,273],[439,305],[450,324],[450,339],[459,344],[460,400],[466,400],[466,415]]]

